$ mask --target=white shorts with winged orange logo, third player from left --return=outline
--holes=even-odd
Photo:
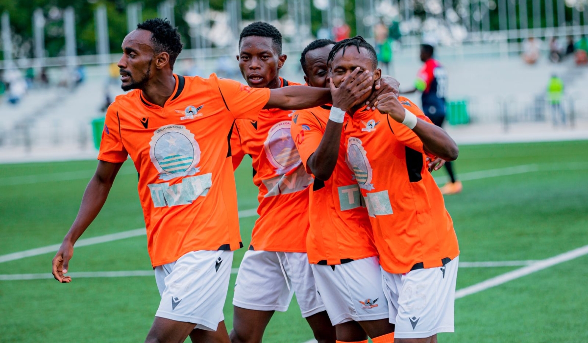
[[[338,265],[312,265],[316,288],[333,325],[388,318],[377,257]]]

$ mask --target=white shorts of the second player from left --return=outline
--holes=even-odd
[[[233,305],[285,312],[294,293],[303,318],[325,311],[305,252],[245,252],[235,282]]]

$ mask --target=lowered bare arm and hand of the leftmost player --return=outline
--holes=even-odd
[[[82,205],[79,207],[78,216],[53,258],[52,273],[57,281],[71,281],[71,277],[66,277],[64,274],[68,271],[69,259],[74,255],[74,244],[102,209],[112,187],[112,182],[121,166],[122,162],[98,162],[96,172],[90,179],[86,191],[83,192]]]

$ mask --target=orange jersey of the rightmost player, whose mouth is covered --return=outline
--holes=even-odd
[[[399,101],[427,120],[408,99],[400,96]],[[347,162],[368,205],[382,268],[401,274],[441,267],[447,258],[457,257],[452,219],[415,132],[363,108],[353,115],[345,135]]]

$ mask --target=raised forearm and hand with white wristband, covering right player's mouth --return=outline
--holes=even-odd
[[[333,169],[339,157],[339,142],[343,131],[343,118],[367,92],[371,91],[372,76],[369,71],[363,73],[356,68],[343,80],[339,88],[330,79],[330,93],[333,97],[333,107],[329,115],[329,121],[325,128],[325,134],[320,140],[316,151],[308,158],[308,167],[316,178],[326,181],[333,174]]]

